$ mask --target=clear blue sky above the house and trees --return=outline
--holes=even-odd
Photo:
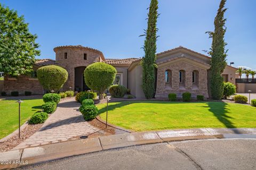
[[[150,0],[1,1],[25,15],[38,35],[41,56],[55,59],[53,48],[83,45],[99,49],[106,58],[143,56],[143,29]],[[211,47],[205,31],[214,29],[217,0],[159,0],[161,14],[157,53],[184,46],[203,53]],[[256,11],[254,0],[227,0],[227,61],[256,69]]]

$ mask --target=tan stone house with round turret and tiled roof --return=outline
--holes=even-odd
[[[68,80],[64,84],[65,90],[89,89],[83,78],[85,68],[95,62],[105,62],[113,65],[116,70],[115,84],[121,84],[131,89],[131,94],[137,98],[144,98],[142,91],[141,58],[105,59],[102,52],[97,49],[83,46],[55,47],[56,60],[37,60],[34,70],[45,65],[59,65],[68,71]],[[210,57],[194,52],[193,50],[178,47],[157,54],[158,65],[156,74],[155,97],[166,98],[168,94],[175,93],[181,97],[183,92],[191,92],[193,97],[204,95],[209,97],[209,69]],[[236,68],[226,67],[222,76],[225,81],[235,84]],[[36,79],[36,72],[30,76],[22,75],[18,78],[5,77],[4,91],[31,91],[33,94],[43,94],[45,91]]]

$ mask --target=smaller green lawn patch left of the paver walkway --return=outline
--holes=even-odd
[[[19,105],[17,100],[0,99],[0,139],[12,133],[19,127]],[[37,111],[41,110],[43,99],[22,100],[21,103],[21,125]]]

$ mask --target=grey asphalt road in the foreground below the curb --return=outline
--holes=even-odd
[[[256,139],[194,140],[94,152],[19,169],[256,169]]]

